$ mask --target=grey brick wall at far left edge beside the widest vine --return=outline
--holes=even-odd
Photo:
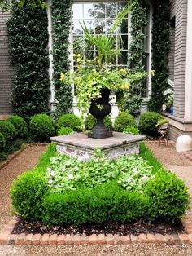
[[[13,113],[11,107],[11,84],[14,68],[8,52],[6,21],[9,13],[0,12],[0,119]]]

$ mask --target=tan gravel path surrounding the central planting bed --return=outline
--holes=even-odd
[[[172,144],[147,143],[168,170],[173,171],[190,187],[192,195],[192,162],[177,153]],[[0,170],[0,228],[11,218],[11,200],[9,189],[12,180],[35,166],[45,146],[33,146],[24,150],[7,166]],[[81,245],[81,246],[32,246],[0,245],[0,256],[192,256],[192,245]]]

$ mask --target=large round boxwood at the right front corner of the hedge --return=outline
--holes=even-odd
[[[188,209],[190,196],[184,182],[175,174],[160,171],[146,185],[145,193],[150,198],[150,220],[163,219],[174,223]]]

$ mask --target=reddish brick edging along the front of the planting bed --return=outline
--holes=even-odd
[[[92,234],[90,236],[84,235],[50,235],[48,233],[41,234],[11,234],[15,224],[18,223],[19,218],[14,217],[11,221],[2,227],[0,232],[0,245],[129,245],[133,243],[156,243],[156,244],[185,244],[192,243],[192,221],[185,216],[182,219],[183,226],[186,233],[161,235],[161,234],[140,234],[138,236],[127,235],[112,235],[107,234]]]

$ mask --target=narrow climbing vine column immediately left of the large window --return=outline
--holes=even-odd
[[[53,55],[55,83],[55,117],[68,113],[72,108],[72,87],[59,81],[60,73],[66,73],[70,68],[68,37],[71,26],[72,0],[53,0]]]

